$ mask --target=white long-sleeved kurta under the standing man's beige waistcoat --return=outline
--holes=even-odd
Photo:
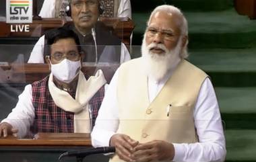
[[[98,113],[98,118],[92,131],[92,145],[94,147],[108,146],[111,136],[116,133],[119,127],[117,103],[118,75],[119,70],[117,70],[110,85],[108,85],[108,90]],[[150,102],[154,100],[170,75],[171,73],[160,82],[156,82],[151,78],[148,79],[148,97]],[[205,79],[199,91],[193,116],[199,143],[174,143],[174,161],[224,161],[226,144],[222,120],[216,94],[208,78]]]

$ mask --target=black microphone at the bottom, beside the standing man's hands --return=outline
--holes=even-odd
[[[63,157],[86,157],[87,155],[102,154],[102,153],[115,153],[115,147],[97,147],[92,149],[83,149],[77,151],[67,151],[59,156],[59,161]]]

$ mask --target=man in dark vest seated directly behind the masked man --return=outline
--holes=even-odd
[[[100,15],[99,0],[71,0],[73,24],[66,24],[63,28],[73,30],[79,37],[83,49],[87,52],[84,62],[123,63],[131,59],[125,44],[106,30],[102,22],[98,22]],[[44,42],[42,36],[36,42],[28,63],[44,63]]]

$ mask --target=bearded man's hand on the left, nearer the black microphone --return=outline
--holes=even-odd
[[[131,153],[138,144],[137,140],[133,140],[125,134],[114,134],[110,138],[110,147],[115,147],[117,155],[124,161],[133,161]]]

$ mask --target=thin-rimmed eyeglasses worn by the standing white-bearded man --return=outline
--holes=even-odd
[[[160,30],[158,28],[148,27],[147,28],[147,34],[149,37],[154,37],[156,34],[161,34],[164,40],[173,41],[176,36],[172,31],[170,30]]]

